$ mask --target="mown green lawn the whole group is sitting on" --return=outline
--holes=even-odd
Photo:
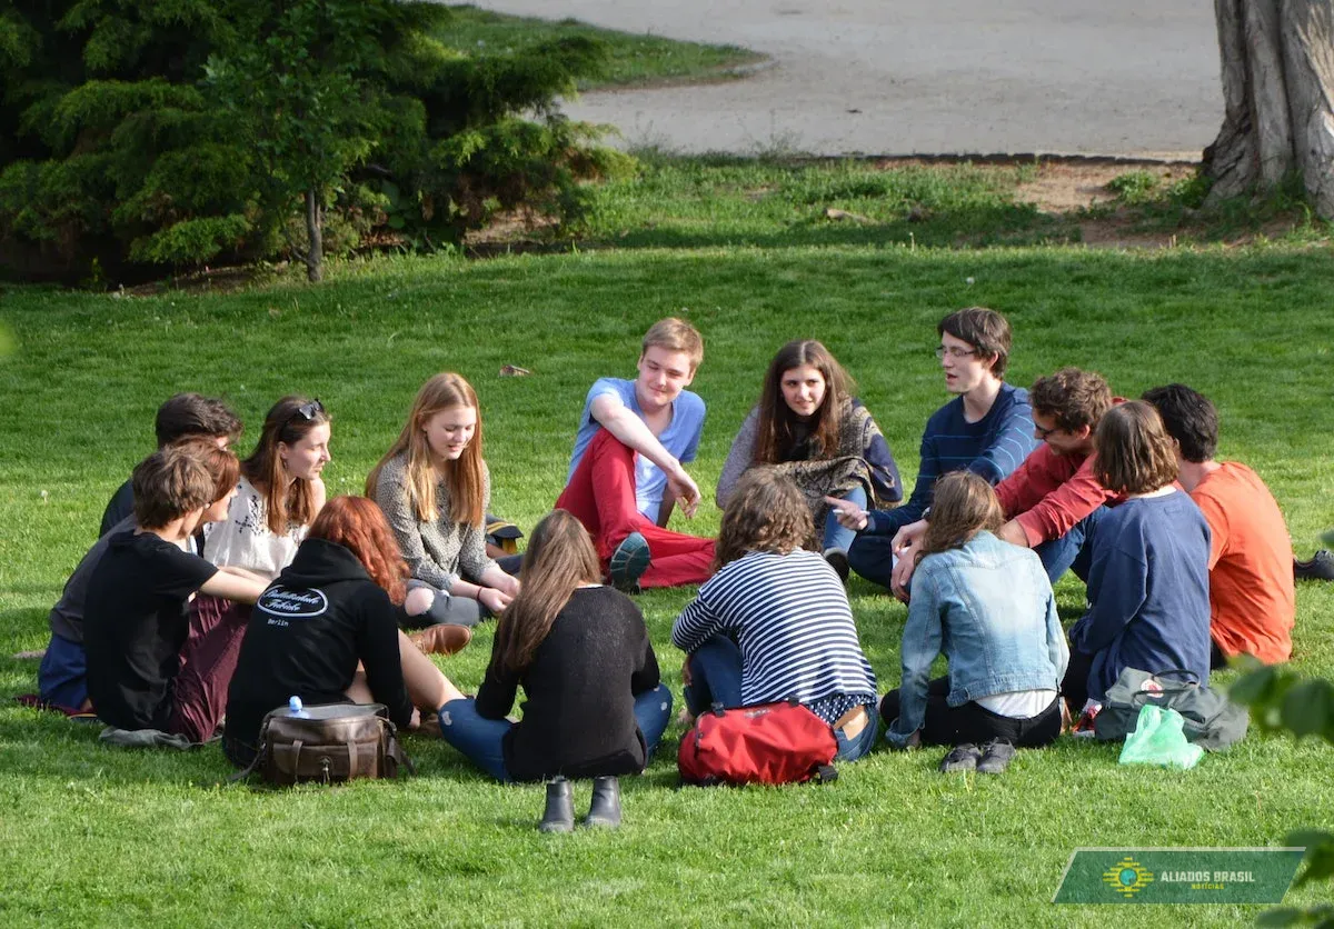
[[[702,233],[703,235],[703,233]],[[707,236],[706,236],[707,237]],[[1126,914],[1049,901],[1077,846],[1281,845],[1330,825],[1331,749],[1251,736],[1195,770],[1127,769],[1117,749],[1021,753],[999,778],[942,777],[942,749],[875,752],[836,784],[675,790],[674,740],[624,785],[626,826],[539,836],[542,790],[498,786],[439,741],[422,774],[344,789],[215,788],[221,753],[117,753],[93,726],[21,709],[45,613],[111,492],[152,447],[168,395],[227,396],[248,451],[280,395],[334,415],[335,492],[355,492],[431,373],[482,399],[494,508],[531,528],[560,490],[590,383],[631,376],[638,339],[676,313],[704,333],[711,488],[774,351],[822,339],[860,385],[911,480],[942,389],[935,323],[984,304],[1015,328],[1011,380],[1074,364],[1134,396],[1181,380],[1222,413],[1222,457],[1269,482],[1303,556],[1334,522],[1327,251],[950,252],[880,244],[636,248],[331,268],[319,288],[157,297],[0,291],[0,924],[28,925],[1169,925],[1259,908]],[[503,364],[530,377],[499,377]],[[712,533],[707,504],[678,528]],[[690,590],[640,598],[678,698],[668,629]],[[852,606],[880,689],[898,684],[904,608],[862,581]],[[1073,621],[1082,589],[1058,588]],[[480,681],[491,632],[443,662]],[[1334,676],[1334,585],[1298,590],[1295,665]],[[1222,680],[1229,680],[1223,674]],[[576,790],[587,804],[588,788]],[[1327,896],[1325,885],[1290,904]]]

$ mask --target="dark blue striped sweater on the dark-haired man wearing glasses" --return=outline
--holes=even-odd
[[[898,509],[868,514],[863,533],[892,536],[922,518],[931,505],[935,481],[951,470],[971,470],[992,486],[1010,476],[1038,447],[1033,437],[1033,407],[1022,387],[1000,385],[991,409],[976,423],[963,419],[963,397],[955,397],[931,415],[922,433],[922,464],[912,496]]]

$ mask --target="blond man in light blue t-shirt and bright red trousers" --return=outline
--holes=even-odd
[[[599,379],[584,401],[556,508],[592,536],[612,584],[700,584],[712,574],[714,540],[663,526],[676,504],[691,517],[699,486],[684,465],[695,460],[704,401],[686,388],[704,356],[695,327],[678,319],[644,333],[639,376]]]

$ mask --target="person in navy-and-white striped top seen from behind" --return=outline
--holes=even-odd
[[[834,729],[839,760],[863,757],[876,736],[875,673],[790,478],[764,469],[742,477],[715,565],[671,633],[690,656],[682,669],[690,713],[795,698]]]

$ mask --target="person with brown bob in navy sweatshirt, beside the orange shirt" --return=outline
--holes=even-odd
[[[1162,419],[1141,400],[1098,424],[1094,476],[1126,501],[1098,521],[1089,612],[1070,628],[1061,692],[1087,728],[1126,668],[1186,669],[1209,682],[1209,522],[1175,486],[1177,456]]]

